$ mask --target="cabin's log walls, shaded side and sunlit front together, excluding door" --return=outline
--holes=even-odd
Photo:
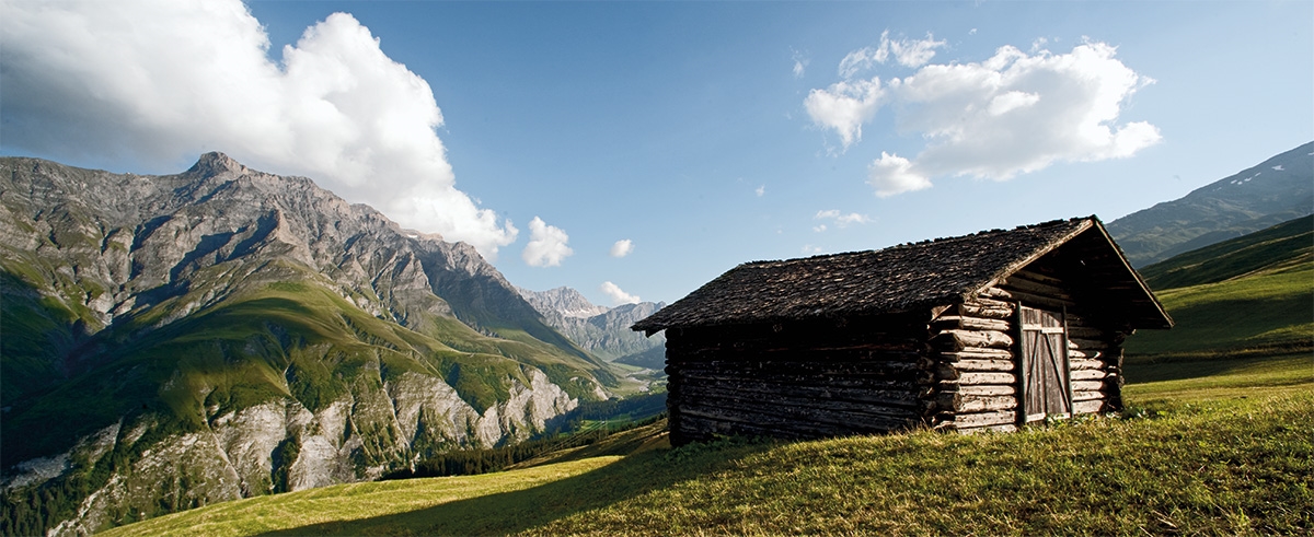
[[[1017,305],[1066,311],[1074,414],[1121,408],[1130,333],[1101,289],[1051,252],[934,311],[666,332],[671,442],[811,439],[912,427],[1014,431]]]

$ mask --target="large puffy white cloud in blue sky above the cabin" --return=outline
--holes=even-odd
[[[983,62],[925,64],[907,77],[890,79],[861,113],[853,105],[857,100],[846,96],[862,80],[813,89],[804,104],[812,121],[833,129],[845,148],[861,139],[862,125],[886,104],[900,134],[926,140],[913,159],[882,151],[870,164],[867,179],[878,196],[929,188],[945,176],[1008,180],[1056,161],[1127,158],[1162,139],[1148,122],[1118,123],[1126,101],[1154,80],[1125,66],[1116,53],[1100,42],[1066,54],[1004,46]],[[846,56],[841,75],[854,62]],[[866,83],[876,85],[880,79]],[[849,106],[813,106],[813,101]]]

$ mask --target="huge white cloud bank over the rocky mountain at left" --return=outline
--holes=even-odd
[[[346,13],[272,60],[240,0],[5,1],[5,144],[163,168],[223,151],[495,259],[516,228],[456,188],[428,83]]]

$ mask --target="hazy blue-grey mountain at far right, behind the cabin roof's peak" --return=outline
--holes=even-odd
[[[1108,223],[1137,268],[1314,213],[1314,142]]]

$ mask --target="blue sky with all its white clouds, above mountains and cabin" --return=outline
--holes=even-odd
[[[1314,139],[1309,1],[113,5],[0,3],[0,152],[223,151],[602,305],[1108,222]]]

